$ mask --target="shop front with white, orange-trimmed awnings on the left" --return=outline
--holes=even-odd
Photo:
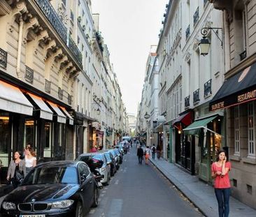
[[[60,105],[52,103],[52,98],[31,93],[31,88],[22,82],[17,84],[0,80],[2,183],[13,152],[23,152],[27,144],[35,149],[38,163],[65,159],[66,120],[69,117]]]

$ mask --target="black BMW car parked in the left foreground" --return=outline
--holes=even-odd
[[[81,161],[52,161],[37,165],[1,204],[2,216],[85,216],[97,207],[98,188]]]

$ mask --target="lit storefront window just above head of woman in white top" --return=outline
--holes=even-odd
[[[25,119],[23,147],[26,147],[27,144],[30,144],[31,147],[36,149],[36,145],[34,144],[34,141],[36,141],[36,128],[34,122],[35,121],[33,119]]]

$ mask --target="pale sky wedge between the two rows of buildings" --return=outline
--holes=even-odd
[[[157,45],[168,0],[92,0],[128,113],[137,112],[150,45]]]

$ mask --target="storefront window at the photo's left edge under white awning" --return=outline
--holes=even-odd
[[[0,167],[8,167],[8,147],[10,147],[10,117],[0,112]]]

